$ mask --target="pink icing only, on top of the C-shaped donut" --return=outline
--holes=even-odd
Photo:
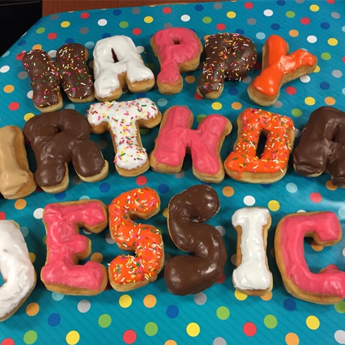
[[[317,235],[320,244],[338,242],[342,228],[331,212],[290,215],[280,223],[280,246],[288,279],[306,293],[345,298],[345,273],[327,266],[321,273],[311,273],[304,257],[304,237]]]

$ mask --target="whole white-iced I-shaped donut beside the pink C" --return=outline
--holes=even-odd
[[[246,295],[266,295],[273,288],[266,255],[270,213],[267,208],[239,208],[231,221],[237,231],[237,268],[233,270],[233,284]]]

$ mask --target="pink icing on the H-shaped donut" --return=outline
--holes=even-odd
[[[157,164],[179,166],[190,148],[193,167],[204,174],[217,174],[221,161],[218,143],[228,124],[221,115],[208,115],[196,130],[190,129],[193,114],[186,106],[174,106],[165,114],[153,152]],[[190,121],[192,117],[192,121]],[[155,168],[155,167],[153,167]]]

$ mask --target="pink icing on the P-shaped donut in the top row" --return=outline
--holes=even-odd
[[[159,30],[153,39],[161,63],[161,72],[157,75],[157,81],[161,83],[179,81],[179,64],[195,59],[201,52],[200,39],[188,28]]]

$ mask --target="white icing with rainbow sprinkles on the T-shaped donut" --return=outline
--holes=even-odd
[[[115,143],[114,162],[128,170],[143,166],[148,160],[146,149],[138,142],[136,122],[154,119],[157,115],[156,104],[148,98],[94,103],[86,114],[90,125],[108,122]]]

